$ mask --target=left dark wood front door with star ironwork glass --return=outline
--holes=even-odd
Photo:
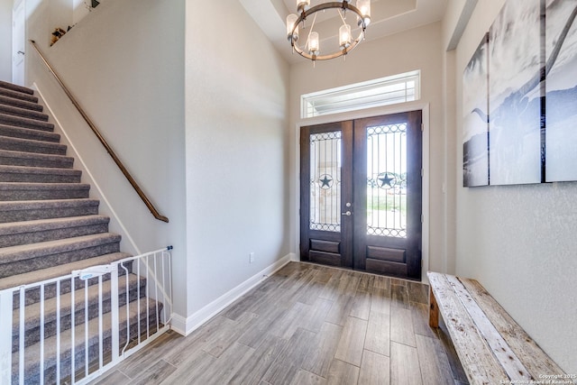
[[[353,267],[353,121],[301,128],[300,257]]]

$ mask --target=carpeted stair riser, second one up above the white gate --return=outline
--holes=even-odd
[[[47,229],[43,231],[31,231],[30,233],[0,235],[0,247],[17,246],[20,244],[55,241],[73,236],[89,234],[103,234],[108,232],[108,222],[94,225],[82,225],[64,227],[60,229]]]

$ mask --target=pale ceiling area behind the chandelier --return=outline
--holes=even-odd
[[[311,0],[311,6],[329,0]],[[297,14],[296,0],[240,0],[252,19],[261,27],[280,54],[290,63],[304,60],[293,55],[287,41],[285,19]],[[447,0],[371,0],[371,25],[366,41],[380,39],[443,18]],[[352,2],[355,5],[356,2]],[[321,47],[327,41],[336,41],[340,16],[333,10],[318,13],[315,31],[321,35]],[[308,22],[308,20],[307,20]],[[308,22],[310,25],[311,22]],[[354,35],[356,35],[353,32]],[[325,41],[325,42],[324,42]],[[336,44],[336,43],[334,43]]]

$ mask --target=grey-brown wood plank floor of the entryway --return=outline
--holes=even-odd
[[[162,335],[92,384],[464,384],[428,286],[291,262],[194,333]]]

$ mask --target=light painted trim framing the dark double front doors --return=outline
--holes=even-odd
[[[362,119],[371,116],[379,115],[390,115],[405,113],[409,111],[421,110],[423,117],[423,228],[422,228],[422,261],[423,267],[421,268],[421,280],[425,280],[426,271],[429,267],[429,182],[430,182],[430,113],[429,113],[429,103],[423,103],[422,101],[409,102],[401,105],[388,105],[384,107],[369,108],[366,110],[352,111],[350,113],[334,114],[334,115],[324,115],[316,116],[313,118],[300,119],[297,121],[294,127],[293,145],[295,146],[295,156],[294,161],[294,186],[293,194],[295,197],[295,209],[293,212],[293,220],[295,224],[294,228],[294,239],[293,247],[294,250],[300,250],[300,128],[306,125],[316,125],[316,124],[327,124],[332,122],[342,122],[345,120]],[[297,255],[299,253],[297,252]],[[299,257],[298,257],[299,258]]]

